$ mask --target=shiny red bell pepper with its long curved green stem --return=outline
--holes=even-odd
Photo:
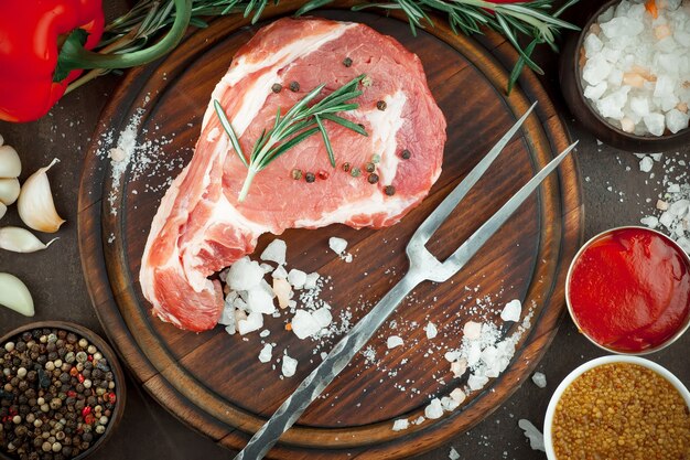
[[[0,0],[0,120],[41,118],[85,68],[126,68],[149,63],[182,40],[192,0],[174,0],[170,32],[129,54],[91,50],[104,31],[101,0]]]

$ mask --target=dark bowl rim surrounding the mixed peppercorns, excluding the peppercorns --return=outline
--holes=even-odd
[[[112,414],[110,416],[110,421],[106,427],[106,431],[100,435],[96,442],[94,442],[91,447],[79,453],[77,457],[74,457],[72,460],[83,460],[87,457],[91,457],[91,454],[100,449],[100,447],[112,436],[112,432],[117,429],[120,419],[122,418],[127,396],[122,366],[118,361],[115,351],[98,334],[87,328],[84,328],[83,325],[66,321],[40,321],[22,325],[2,335],[2,338],[0,338],[0,346],[4,346],[4,344],[9,342],[10,339],[15,338],[22,332],[33,331],[35,329],[62,329],[68,332],[74,332],[78,336],[88,340],[90,344],[95,345],[110,364],[110,370],[112,371],[115,378],[115,395],[117,396],[115,408],[112,409]],[[2,351],[4,352],[4,349],[2,349]],[[0,460],[17,460],[17,458],[18,457],[12,457],[9,453],[0,450]]]

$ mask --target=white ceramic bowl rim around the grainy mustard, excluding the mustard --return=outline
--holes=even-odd
[[[568,374],[568,376],[563,379],[563,382],[561,382],[558,388],[556,388],[556,392],[553,392],[553,396],[551,396],[551,400],[549,402],[547,416],[543,421],[543,445],[547,449],[547,458],[549,460],[557,460],[556,452],[553,451],[553,438],[551,436],[551,428],[553,425],[553,414],[556,413],[556,405],[561,399],[561,396],[563,396],[563,392],[570,386],[571,383],[573,383],[575,378],[578,378],[589,370],[612,363],[638,364],[656,372],[657,374],[666,378],[671,385],[673,385],[676,389],[678,389],[678,393],[680,393],[682,398],[686,400],[686,404],[690,408],[690,392],[688,391],[688,388],[686,388],[686,386],[678,379],[678,377],[676,377],[668,370],[666,370],[666,367],[662,367],[657,363],[645,360],[644,357],[625,355],[602,356],[592,361],[587,361],[586,363],[582,364],[580,367]]]

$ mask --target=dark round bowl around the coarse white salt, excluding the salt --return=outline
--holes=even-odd
[[[621,0],[610,0],[592,12],[587,18],[582,31],[571,33],[563,46],[560,57],[559,77],[561,90],[565,103],[573,117],[593,136],[602,142],[622,150],[632,152],[662,152],[679,149],[690,143],[690,128],[686,128],[677,133],[668,130],[664,136],[636,136],[625,132],[622,129],[608,124],[596,110],[592,108],[584,97],[582,87],[581,53],[584,38],[590,26],[596,21],[600,14],[610,7],[619,3]]]

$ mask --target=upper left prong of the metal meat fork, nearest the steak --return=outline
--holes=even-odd
[[[427,217],[424,222],[422,222],[419,228],[417,228],[417,232],[414,232],[414,235],[412,235],[411,243],[413,242],[416,244],[425,244],[429,240],[431,235],[433,235],[434,232],[439,229],[441,224],[448,218],[448,216],[451,215],[455,206],[457,206],[457,203],[460,203],[465,197],[467,192],[474,186],[474,184],[477,183],[482,175],[484,175],[488,167],[492,165],[494,160],[506,147],[508,141],[510,141],[513,136],[518,131],[518,129],[520,129],[520,126],[522,126],[522,122],[527,119],[527,117],[529,117],[529,114],[531,114],[536,105],[537,103],[531,105],[531,107],[525,113],[525,115],[522,115],[520,119],[517,120],[515,125],[513,125],[513,128],[510,128],[508,132],[506,132],[498,140],[498,142],[496,142],[496,145],[492,148],[492,150],[489,150],[486,157],[484,157],[482,161],[479,161],[477,165],[474,167],[472,171],[470,171],[470,174],[467,174],[465,179],[463,179],[460,184],[457,184],[457,186],[455,186],[455,189],[453,189],[453,191],[449,193],[443,202],[441,202],[441,204],[436,206],[436,208],[429,215],[429,217]]]

